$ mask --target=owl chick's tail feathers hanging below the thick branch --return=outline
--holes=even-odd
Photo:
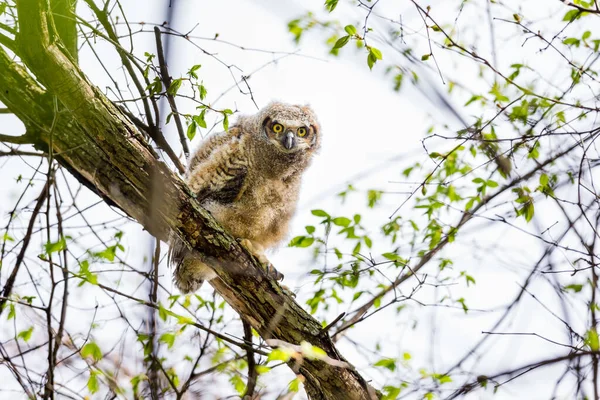
[[[215,272],[202,262],[200,255],[187,248],[179,238],[171,236],[169,263],[175,266],[173,281],[182,293],[193,293],[200,289],[205,280],[216,276]]]

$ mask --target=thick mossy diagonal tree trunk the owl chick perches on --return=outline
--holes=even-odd
[[[73,11],[72,1],[56,4]],[[167,241],[172,230],[206,255],[218,266],[215,289],[263,338],[306,341],[344,360],[321,324],[269,280],[258,260],[199,206],[129,119],[89,82],[77,66],[72,38],[67,45],[61,41],[61,30],[72,31],[57,29],[56,7],[48,0],[17,0],[17,49],[27,69],[0,47],[0,101],[23,121],[26,137],[157,238]],[[158,199],[151,196],[157,184]],[[377,397],[353,368],[307,359],[290,367],[306,378],[311,399]]]

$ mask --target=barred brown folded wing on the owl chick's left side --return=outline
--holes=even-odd
[[[190,163],[188,185],[200,201],[234,201],[244,189],[248,174],[244,136],[237,129],[214,135]]]

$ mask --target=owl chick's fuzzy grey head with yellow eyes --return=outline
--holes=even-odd
[[[293,154],[319,148],[320,127],[310,107],[271,103],[259,115],[264,138],[278,151]]]

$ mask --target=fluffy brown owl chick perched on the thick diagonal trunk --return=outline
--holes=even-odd
[[[188,186],[229,233],[270,265],[264,251],[285,238],[302,173],[320,139],[308,106],[271,103],[256,115],[240,117],[228,132],[206,138],[191,158]],[[216,276],[201,254],[176,237],[171,239],[170,260],[183,293]]]

